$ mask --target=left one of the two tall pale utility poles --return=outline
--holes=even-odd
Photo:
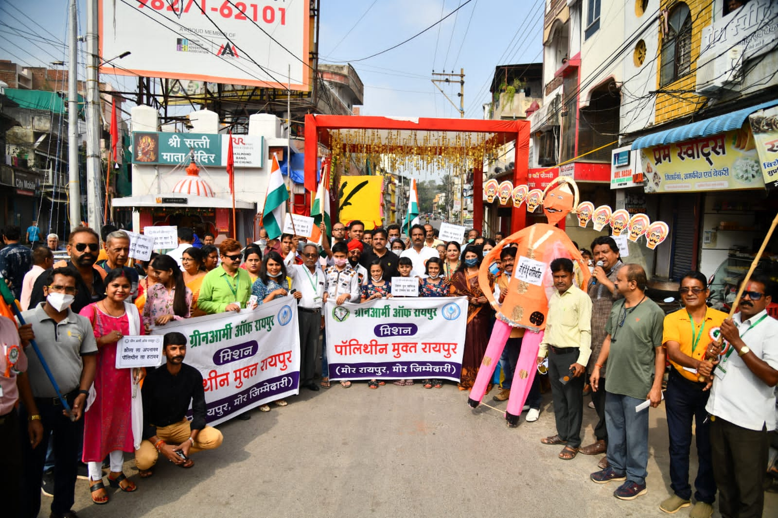
[[[70,63],[68,65],[68,215],[70,226],[81,223],[81,180],[79,179],[79,22],[75,0],[70,0]],[[54,174],[54,167],[51,168]],[[52,178],[52,184],[54,179]],[[63,236],[64,237],[64,236]]]

